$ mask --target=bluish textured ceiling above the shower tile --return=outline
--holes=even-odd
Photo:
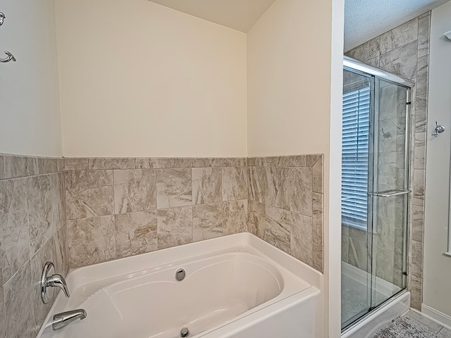
[[[345,0],[345,51],[449,0]]]

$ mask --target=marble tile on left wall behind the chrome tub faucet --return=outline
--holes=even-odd
[[[62,170],[61,158],[0,154],[0,338],[36,337],[51,306],[44,263],[68,273]]]

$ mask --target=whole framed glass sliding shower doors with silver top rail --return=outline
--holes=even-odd
[[[342,329],[407,287],[412,83],[345,57]]]

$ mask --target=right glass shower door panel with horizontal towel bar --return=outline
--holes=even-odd
[[[407,286],[409,89],[376,79],[371,307]]]

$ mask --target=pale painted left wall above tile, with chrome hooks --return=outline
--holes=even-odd
[[[0,11],[0,152],[61,156],[53,0],[5,0]]]

